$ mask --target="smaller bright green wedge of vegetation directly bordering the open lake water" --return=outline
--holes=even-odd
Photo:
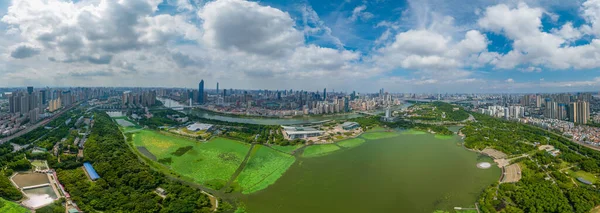
[[[249,194],[274,184],[296,159],[269,147],[256,145],[252,155],[237,177],[242,193]]]

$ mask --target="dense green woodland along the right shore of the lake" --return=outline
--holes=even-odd
[[[466,135],[466,147],[493,147],[508,155],[528,153],[531,156],[531,159],[516,161],[522,169],[519,182],[495,184],[484,191],[479,200],[482,212],[583,213],[600,204],[598,189],[576,184],[571,177],[559,171],[561,163],[566,162],[575,165],[573,169],[598,174],[599,152],[537,127],[481,114],[473,115],[478,122],[470,123],[461,130]],[[536,142],[553,145],[561,154],[553,157],[536,151],[537,148],[533,146]],[[538,167],[538,164],[542,166]]]

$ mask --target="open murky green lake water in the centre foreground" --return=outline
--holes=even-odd
[[[473,206],[500,169],[457,137],[401,134],[301,158],[273,185],[240,197],[251,213],[427,212]],[[494,164],[495,165],[495,164]]]

